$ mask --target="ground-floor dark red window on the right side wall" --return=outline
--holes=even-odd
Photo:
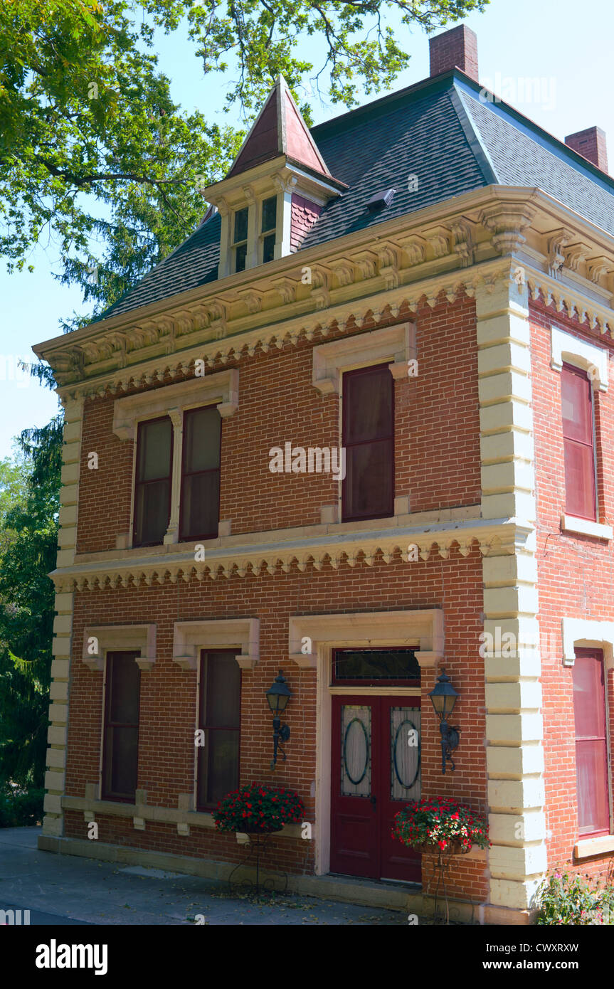
[[[604,675],[600,650],[575,650],[573,718],[580,836],[610,833]]]

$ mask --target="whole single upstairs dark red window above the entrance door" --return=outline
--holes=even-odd
[[[387,364],[343,375],[344,522],[395,514],[393,386]]]

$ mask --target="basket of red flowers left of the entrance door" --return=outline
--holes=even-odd
[[[251,783],[226,793],[213,812],[218,831],[264,835],[303,821],[305,805],[294,790]]]

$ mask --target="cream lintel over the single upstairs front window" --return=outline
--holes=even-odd
[[[415,323],[399,322],[383,329],[341,337],[330,343],[313,347],[311,383],[322,395],[340,394],[340,379],[344,371],[371,364],[391,361],[393,374],[398,377],[399,364],[407,374],[407,361],[415,356]]]

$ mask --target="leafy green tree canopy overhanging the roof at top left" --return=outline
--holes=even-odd
[[[388,15],[400,13],[408,40],[411,25],[432,31],[485,3],[3,0],[0,254],[22,268],[50,235],[64,259],[58,277],[99,313],[192,232],[199,188],[222,177],[243,132],[173,104],[156,27],[187,30],[212,83],[212,73],[236,72],[227,107],[248,120],[280,72],[298,96],[315,71],[309,39],[324,42],[317,84],[324,72],[332,102],[351,106],[357,84],[377,92],[407,64]]]

